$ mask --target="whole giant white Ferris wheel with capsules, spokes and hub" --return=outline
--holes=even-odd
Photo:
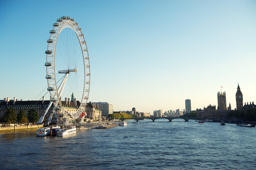
[[[53,30],[49,31],[44,65],[47,90],[54,107],[48,121],[53,115],[58,121],[63,121],[77,119],[85,113],[90,88],[90,63],[84,34],[74,21],[71,17],[58,18],[53,23]],[[77,105],[75,99],[72,102],[76,108],[68,110],[62,100],[73,93],[80,103]]]

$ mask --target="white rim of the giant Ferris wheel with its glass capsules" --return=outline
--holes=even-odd
[[[50,92],[50,100],[54,102],[55,107],[61,107],[62,111],[66,111],[64,107],[62,106],[61,98],[58,93],[57,83],[56,83],[56,74],[55,74],[55,49],[58,37],[62,30],[65,28],[71,28],[75,34],[77,35],[77,38],[79,40],[80,48],[82,51],[82,57],[84,62],[84,87],[83,87],[83,94],[80,102],[79,108],[73,113],[73,117],[77,118],[79,117],[78,110],[81,109],[81,107],[85,107],[86,103],[88,101],[88,95],[89,95],[89,88],[90,88],[90,65],[89,65],[89,55],[88,55],[88,48],[87,44],[84,38],[84,34],[81,32],[81,28],[78,26],[78,23],[74,22],[74,19],[71,19],[70,17],[62,17],[57,19],[57,23],[53,24],[54,28],[53,30],[50,30],[50,38],[47,40],[47,51],[46,53],[46,79],[47,84]],[[52,64],[50,64],[52,63]],[[55,100],[55,101],[54,101]],[[84,109],[84,108],[83,108]],[[81,111],[81,110],[80,110]]]

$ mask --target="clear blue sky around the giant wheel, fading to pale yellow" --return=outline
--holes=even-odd
[[[217,107],[222,85],[234,109],[239,82],[244,102],[256,102],[255,0],[1,0],[0,99],[38,100],[62,16],[85,34],[89,101],[152,113],[191,99],[195,110]]]

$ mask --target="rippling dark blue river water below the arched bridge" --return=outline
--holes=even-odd
[[[181,119],[135,122],[78,129],[64,137],[36,137],[35,130],[0,133],[0,169],[256,169],[255,127]]]

